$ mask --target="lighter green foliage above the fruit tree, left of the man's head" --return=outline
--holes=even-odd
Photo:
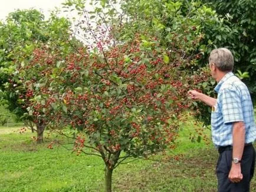
[[[208,54],[216,48],[215,44],[229,39],[235,31],[224,25],[224,20],[214,9],[198,1],[156,0],[124,1],[121,8],[129,19],[123,24],[126,30],[120,32],[120,37],[117,38],[132,38],[136,30],[147,31],[156,35],[160,45],[171,52],[182,48],[183,57],[194,59],[183,67],[185,74],[195,79],[189,81],[189,84],[196,90],[215,96],[214,83],[207,72]],[[208,107],[194,102],[192,108],[199,120],[204,121],[206,125],[210,124],[211,110]]]

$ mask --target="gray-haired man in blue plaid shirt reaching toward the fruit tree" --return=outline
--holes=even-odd
[[[195,90],[188,94],[212,107],[212,141],[219,151],[218,191],[250,191],[255,167],[254,109],[248,88],[232,73],[233,67],[234,58],[228,49],[214,49],[209,57],[209,68],[218,82],[215,87],[218,97],[215,99]]]

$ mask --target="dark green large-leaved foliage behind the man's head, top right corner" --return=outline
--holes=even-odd
[[[208,3],[216,10],[216,13],[222,16],[224,20],[223,27],[232,29],[232,33],[228,38],[221,38],[221,42],[214,42],[216,47],[227,47],[231,49],[235,58],[235,71],[242,73],[248,72],[250,77],[243,77],[243,81],[250,88],[252,97],[256,97],[256,1],[239,0],[239,1],[208,1]],[[216,31],[218,35],[222,35],[222,31]],[[239,73],[239,72],[238,72]]]

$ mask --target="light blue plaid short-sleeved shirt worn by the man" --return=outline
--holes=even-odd
[[[228,72],[214,90],[218,92],[211,115],[212,141],[215,146],[232,145],[232,123],[237,121],[245,124],[245,143],[254,142],[254,108],[246,85],[232,72]]]

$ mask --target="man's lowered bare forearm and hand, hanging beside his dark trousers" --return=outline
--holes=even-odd
[[[238,121],[233,123],[233,158],[242,159],[242,153],[244,152],[245,144],[245,125],[244,122]],[[241,173],[241,163],[235,164],[232,162],[231,170],[229,172],[228,178],[233,183],[238,183],[242,180]]]

